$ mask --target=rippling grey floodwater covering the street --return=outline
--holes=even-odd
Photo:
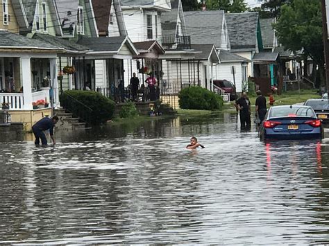
[[[329,243],[327,139],[262,143],[230,114],[56,134],[0,143],[0,244]]]

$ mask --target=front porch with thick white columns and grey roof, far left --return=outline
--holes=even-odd
[[[12,122],[26,123],[31,130],[33,122],[45,114],[51,114],[51,107],[33,110],[37,100],[58,101],[57,54],[64,50],[19,34],[0,31],[1,86],[0,103],[9,103]],[[37,63],[35,63],[37,61]],[[41,73],[42,87],[35,88],[35,68]],[[53,93],[49,94],[49,83]],[[52,98],[51,98],[52,96]]]

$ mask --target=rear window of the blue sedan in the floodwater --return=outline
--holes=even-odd
[[[294,116],[315,117],[315,114],[310,107],[272,107],[270,114],[270,118]]]

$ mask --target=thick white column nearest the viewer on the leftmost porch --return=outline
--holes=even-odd
[[[32,79],[31,79],[31,58],[20,59],[21,74],[23,80],[24,110],[32,110]]]

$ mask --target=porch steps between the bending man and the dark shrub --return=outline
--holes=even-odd
[[[80,118],[74,117],[73,114],[67,112],[67,109],[55,109],[54,114],[59,118],[59,121],[56,124],[56,128],[60,130],[74,130],[86,128],[86,124],[84,122],[80,122]]]

